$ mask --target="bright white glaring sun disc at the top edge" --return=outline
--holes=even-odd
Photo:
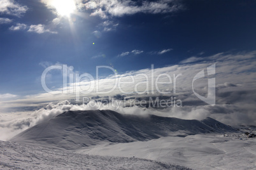
[[[56,8],[57,13],[61,16],[69,16],[76,10],[74,0],[53,0],[52,6]]]

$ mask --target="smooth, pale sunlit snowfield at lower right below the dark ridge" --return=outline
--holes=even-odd
[[[139,157],[199,170],[256,169],[256,138],[247,138],[245,134],[238,133],[228,135],[167,136],[150,141],[102,144],[76,152]]]

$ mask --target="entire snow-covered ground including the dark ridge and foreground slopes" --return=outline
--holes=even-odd
[[[256,140],[210,117],[69,111],[0,142],[1,169],[256,169]],[[175,165],[180,166],[175,166]]]

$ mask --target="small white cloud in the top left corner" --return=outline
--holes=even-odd
[[[29,8],[15,3],[13,0],[0,0],[0,13],[14,16],[22,16]]]

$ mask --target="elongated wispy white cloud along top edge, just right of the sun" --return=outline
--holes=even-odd
[[[134,15],[136,13],[173,13],[183,10],[183,6],[178,1],[160,0],[160,1],[87,1],[85,4],[80,3],[80,8],[85,7],[92,10],[91,15],[97,15],[101,18],[108,16]]]

